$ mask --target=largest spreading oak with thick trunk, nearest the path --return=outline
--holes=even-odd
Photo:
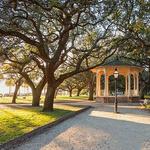
[[[1,0],[0,6],[0,36],[36,49],[30,56],[47,82],[43,111],[53,110],[55,90],[65,79],[98,66],[119,44],[108,21],[115,1]]]

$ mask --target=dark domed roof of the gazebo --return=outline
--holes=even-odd
[[[133,66],[133,67],[142,67],[138,62],[125,58],[114,58],[108,59],[101,66]]]

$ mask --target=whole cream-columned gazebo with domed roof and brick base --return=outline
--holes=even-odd
[[[119,93],[118,89],[119,101],[137,101],[139,99],[139,73],[143,69],[133,61],[118,57],[92,69],[96,73],[96,99],[113,102],[114,95],[110,87],[113,84],[111,81],[116,68],[119,75],[124,78],[124,92]]]

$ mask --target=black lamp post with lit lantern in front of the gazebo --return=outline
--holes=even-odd
[[[118,100],[117,100],[117,79],[119,76],[119,72],[117,71],[117,68],[115,69],[114,72],[114,78],[115,78],[115,103],[114,103],[114,112],[117,113],[117,105],[118,105]]]

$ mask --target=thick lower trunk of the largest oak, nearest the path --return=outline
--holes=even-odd
[[[47,92],[46,92],[46,96],[44,100],[43,111],[53,111],[55,91],[56,91],[56,87],[48,83]]]

